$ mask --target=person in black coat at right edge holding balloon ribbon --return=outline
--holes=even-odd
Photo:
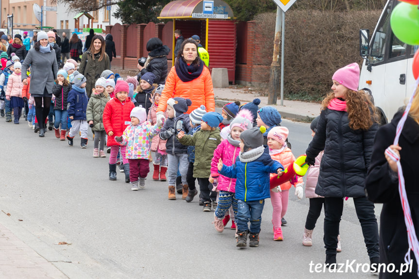
[[[399,196],[399,180],[396,163],[386,158],[384,151],[390,147],[400,154],[404,184],[409,201],[410,213],[419,238],[419,90],[414,97],[410,113],[404,123],[399,146],[393,146],[396,127],[402,118],[402,111],[394,115],[393,120],[381,127],[375,136],[371,164],[368,171],[365,189],[368,198],[383,203],[380,218],[380,263],[395,264],[399,268],[404,263],[404,256],[409,250],[407,230],[404,223],[402,204]],[[411,273],[402,276],[391,273],[380,273],[380,279],[387,278],[418,278],[418,263],[413,253]],[[410,268],[410,266],[409,266]]]

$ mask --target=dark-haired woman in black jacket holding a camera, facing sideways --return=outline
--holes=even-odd
[[[137,75],[139,81],[141,76],[147,72],[152,72],[156,79],[154,80],[157,84],[165,84],[168,76],[168,54],[170,49],[167,46],[163,46],[163,42],[159,38],[151,38],[147,42],[147,51],[149,56],[144,66],[137,64],[137,68],[140,73]]]

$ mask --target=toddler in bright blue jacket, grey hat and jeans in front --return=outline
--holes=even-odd
[[[270,158],[263,147],[265,126],[252,128],[240,134],[240,154],[235,164],[226,166],[218,160],[218,172],[223,176],[236,178],[237,198],[237,243],[236,247],[259,246],[259,232],[265,198],[270,197],[269,174],[282,175],[284,166]],[[250,229],[248,223],[250,221]]]

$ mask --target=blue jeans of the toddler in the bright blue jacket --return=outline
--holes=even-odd
[[[250,221],[250,232],[253,234],[259,233],[264,205],[264,199],[253,201],[242,201],[241,199],[237,199],[237,232],[249,230],[248,223]]]

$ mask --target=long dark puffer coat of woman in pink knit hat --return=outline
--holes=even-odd
[[[364,182],[372,154],[378,124],[368,131],[352,130],[348,113],[324,109],[318,119],[316,134],[305,151],[316,158],[324,155],[316,194],[323,197],[365,197]]]

